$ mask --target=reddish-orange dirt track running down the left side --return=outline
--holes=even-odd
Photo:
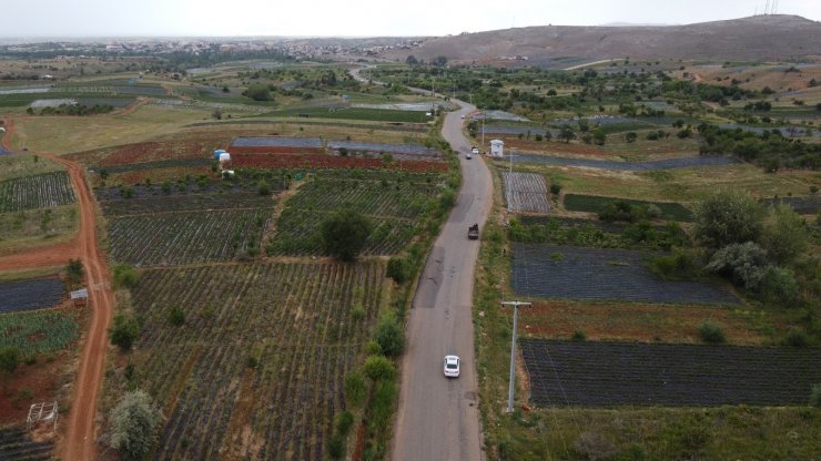
[[[93,313],[80,358],[80,369],[74,383],[74,398],[69,413],[61,458],[67,461],[87,461],[97,458],[94,414],[97,414],[97,401],[102,385],[108,345],[105,338],[111,322],[114,295],[109,283],[105,258],[97,245],[94,202],[85,184],[82,168],[77,163],[52,154],[40,155],[65,165],[74,185],[80,208],[80,233],[74,243],[74,252],[82,259],[85,268],[89,300]]]

